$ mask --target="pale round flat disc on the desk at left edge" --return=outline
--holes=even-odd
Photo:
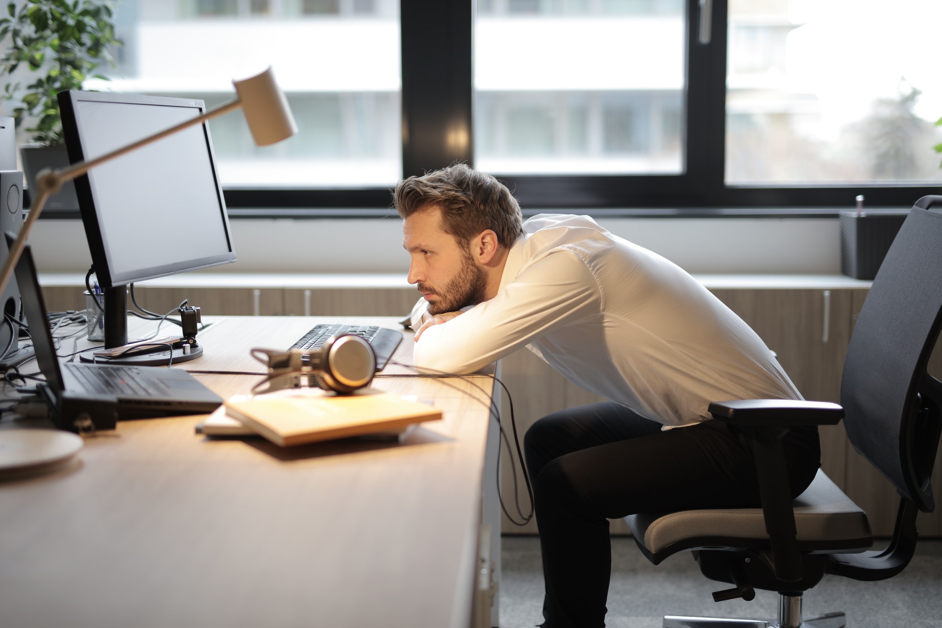
[[[57,429],[0,429],[0,477],[55,471],[83,444],[82,437]]]

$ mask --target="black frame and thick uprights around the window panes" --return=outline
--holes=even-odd
[[[834,217],[864,194],[868,207],[909,207],[939,185],[726,185],[727,0],[685,0],[684,172],[520,176],[495,172],[524,207],[596,216]],[[710,40],[699,41],[712,5]],[[475,0],[400,0],[402,176],[456,161],[474,165],[472,45]],[[224,189],[233,217],[388,216],[391,189]],[[57,217],[77,217],[72,213]],[[50,216],[52,217],[52,216]]]

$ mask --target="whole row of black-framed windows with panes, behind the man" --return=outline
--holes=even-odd
[[[235,213],[384,214],[454,161],[599,213],[833,215],[942,182],[938,0],[123,0],[118,23],[89,89],[212,106],[274,67],[297,137],[211,122]]]

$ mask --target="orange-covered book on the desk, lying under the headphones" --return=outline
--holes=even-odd
[[[433,406],[387,393],[256,396],[225,403],[226,414],[283,447],[394,430],[442,418]]]

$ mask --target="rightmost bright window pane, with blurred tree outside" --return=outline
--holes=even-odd
[[[942,180],[940,22],[937,0],[732,0],[726,183]]]

